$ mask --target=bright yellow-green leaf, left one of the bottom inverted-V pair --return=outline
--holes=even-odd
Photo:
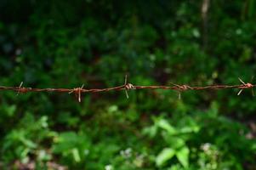
[[[175,150],[171,148],[163,149],[158,156],[156,156],[156,165],[162,166],[166,161],[170,160],[175,155]]]

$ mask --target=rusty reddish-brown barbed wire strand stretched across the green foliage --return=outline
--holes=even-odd
[[[209,86],[189,86],[189,85],[179,85],[171,83],[172,86],[139,86],[139,85],[133,85],[131,83],[128,83],[128,77],[125,77],[124,84],[117,87],[112,88],[84,88],[84,85],[82,84],[82,87],[80,88],[26,88],[23,87],[23,82],[20,83],[19,87],[6,87],[6,86],[0,86],[0,91],[3,90],[11,90],[17,92],[17,95],[19,94],[26,94],[28,92],[55,92],[55,93],[68,93],[68,94],[75,94],[77,97],[78,102],[81,102],[81,97],[83,93],[100,93],[100,92],[109,92],[109,91],[119,91],[119,90],[125,90],[125,94],[127,98],[128,91],[129,90],[137,90],[137,89],[163,89],[163,90],[175,90],[179,93],[179,99],[181,92],[185,92],[188,90],[219,90],[219,89],[225,89],[225,88],[238,88],[240,89],[237,95],[240,95],[242,93],[243,89],[250,88],[252,89],[252,94],[254,96],[253,88],[256,87],[256,84],[252,84],[250,82],[243,82],[241,78],[238,78],[238,80],[241,82],[241,84],[238,85],[209,85]]]

